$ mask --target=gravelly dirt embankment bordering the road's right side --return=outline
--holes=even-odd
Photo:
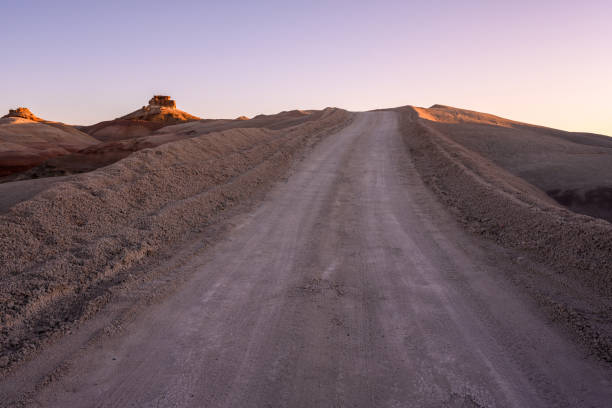
[[[555,272],[527,290],[599,357],[612,361],[612,224],[576,214],[544,192],[398,108],[401,129],[426,184],[467,229],[528,254]],[[520,268],[520,264],[517,268]]]

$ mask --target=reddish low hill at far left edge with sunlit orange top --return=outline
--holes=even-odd
[[[0,119],[0,177],[38,166],[53,157],[97,144],[91,136],[63,123],[9,116]]]

